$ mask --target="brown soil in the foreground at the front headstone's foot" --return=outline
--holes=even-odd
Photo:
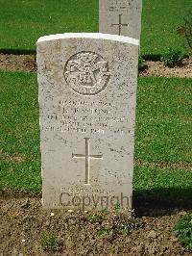
[[[185,214],[183,210],[172,209],[158,217],[134,218],[136,228],[128,235],[119,230],[130,221],[125,213],[111,212],[95,219],[92,218],[95,213],[47,211],[42,209],[39,196],[25,194],[22,198],[2,195],[0,202],[0,255],[3,256],[191,255],[173,233],[174,225]],[[108,232],[111,227],[112,233]],[[46,231],[60,241],[54,253],[42,249],[41,236]]]

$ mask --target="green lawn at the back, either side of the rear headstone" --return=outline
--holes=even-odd
[[[0,0],[0,49],[35,50],[40,36],[98,32],[98,0]],[[143,0],[142,54],[183,49],[176,33],[189,0]]]

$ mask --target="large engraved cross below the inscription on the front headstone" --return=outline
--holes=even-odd
[[[72,154],[72,158],[83,158],[85,160],[85,180],[84,185],[89,185],[89,161],[90,159],[103,159],[103,155],[90,155],[89,154],[89,141],[90,138],[84,138],[85,140],[85,154]]]

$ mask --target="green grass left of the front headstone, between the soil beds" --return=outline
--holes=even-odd
[[[0,72],[0,188],[41,189],[35,73]]]

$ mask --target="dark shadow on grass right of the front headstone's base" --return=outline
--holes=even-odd
[[[133,192],[133,209],[137,217],[158,217],[179,210],[192,209],[192,188],[154,189]]]

